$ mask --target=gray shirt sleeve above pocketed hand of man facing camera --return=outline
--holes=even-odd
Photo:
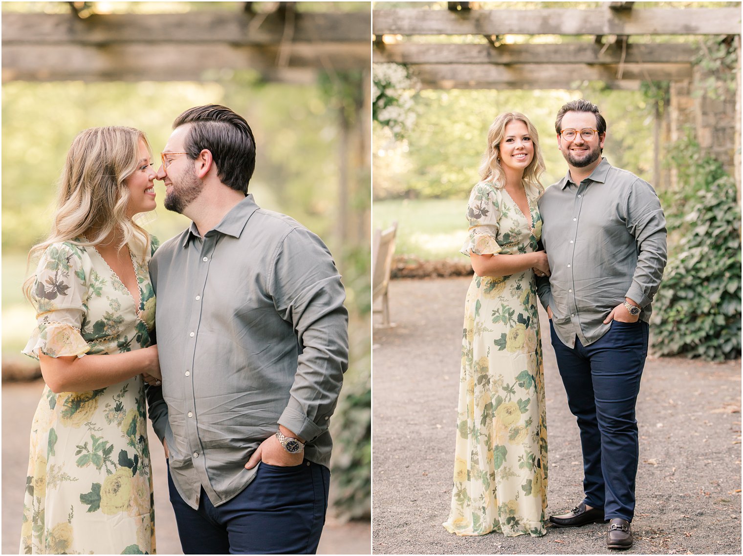
[[[666,248],[666,218],[661,201],[649,183],[637,180],[627,196],[627,229],[635,237],[637,266],[626,297],[646,307],[663,278],[668,258]]]

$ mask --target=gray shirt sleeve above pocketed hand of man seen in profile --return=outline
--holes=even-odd
[[[312,442],[328,429],[348,368],[345,290],[328,248],[302,228],[280,244],[269,284],[276,311],[292,323],[299,344],[279,425]]]

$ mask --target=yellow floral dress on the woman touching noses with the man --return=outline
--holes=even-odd
[[[139,307],[93,247],[49,246],[32,292],[38,326],[24,353],[88,357],[149,346],[151,243],[143,257],[130,246]],[[21,554],[155,554],[145,419],[139,375],[88,392],[44,388],[31,426]]]

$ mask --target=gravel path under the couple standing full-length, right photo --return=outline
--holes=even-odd
[[[374,329],[375,554],[606,554],[606,526],[544,537],[456,537],[450,506],[461,326],[470,278],[396,280],[396,327]],[[542,316],[542,330],[549,330]],[[375,317],[375,324],[379,320]],[[582,500],[574,416],[545,343],[548,512]],[[626,554],[741,554],[741,362],[648,358],[637,402],[640,464]],[[614,552],[616,554],[616,552]]]

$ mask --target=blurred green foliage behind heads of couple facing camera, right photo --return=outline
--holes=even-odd
[[[606,118],[603,154],[609,162],[651,180],[654,105],[640,91],[607,91],[593,82],[580,85],[580,92],[423,90],[406,140],[391,142],[374,122],[374,200],[458,197],[466,203],[479,179],[487,129],[505,111],[522,112],[539,131],[547,166],[542,184],[548,186],[567,171],[557,149],[555,114],[581,97],[598,105]]]

